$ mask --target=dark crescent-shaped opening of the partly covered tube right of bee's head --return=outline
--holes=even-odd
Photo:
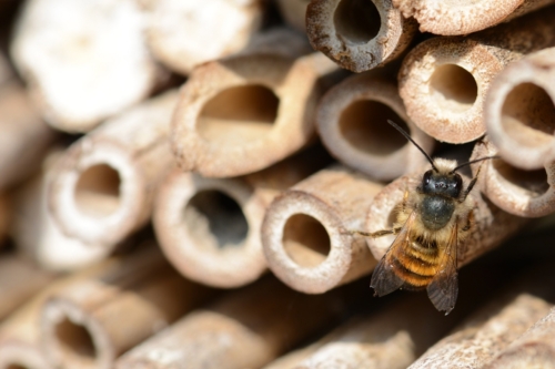
[[[493,167],[508,183],[525,189],[531,196],[541,196],[549,188],[545,170],[524,171],[502,160],[493,161]]]

